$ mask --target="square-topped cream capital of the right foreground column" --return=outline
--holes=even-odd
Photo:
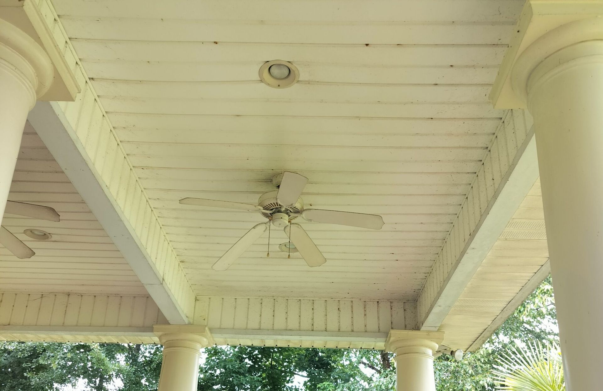
[[[526,109],[529,84],[538,66],[552,54],[587,41],[603,40],[603,2],[528,0],[490,92],[496,109]],[[573,50],[573,58],[601,54]],[[567,53],[564,54],[567,57]],[[571,59],[565,59],[569,61]],[[550,69],[549,69],[550,70]]]

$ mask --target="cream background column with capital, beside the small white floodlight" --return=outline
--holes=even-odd
[[[442,339],[437,331],[390,331],[385,349],[396,354],[397,391],[435,391],[434,353]]]

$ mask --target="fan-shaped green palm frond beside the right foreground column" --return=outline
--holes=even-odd
[[[493,371],[504,391],[565,391],[561,354],[557,346],[540,343],[513,348],[499,358]]]

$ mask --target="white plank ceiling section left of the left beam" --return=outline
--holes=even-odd
[[[54,208],[61,221],[4,214],[2,226],[36,252],[19,259],[0,244],[0,292],[144,295],[147,291],[35,130],[26,124],[8,199]],[[49,232],[35,240],[25,229]]]

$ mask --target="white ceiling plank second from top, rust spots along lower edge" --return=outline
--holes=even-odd
[[[140,17],[60,17],[69,36],[78,39],[190,42],[405,43],[412,45],[496,45],[508,43],[510,22],[341,22],[183,20]],[[282,34],[286,25],[287,34]],[[169,34],[166,32],[169,31]]]

